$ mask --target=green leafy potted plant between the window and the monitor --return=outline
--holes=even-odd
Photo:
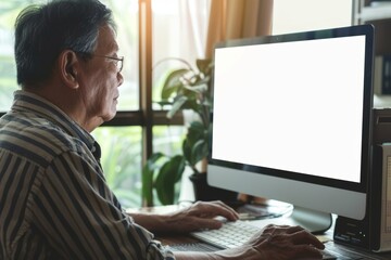
[[[194,68],[184,60],[175,60],[182,63],[184,68],[171,72],[165,78],[159,104],[162,106],[171,105],[166,115],[167,118],[172,118],[178,112],[190,109],[195,113],[198,119],[192,120],[187,126],[181,154],[167,156],[157,152],[152,154],[144,165],[142,169],[142,197],[143,204],[147,206],[153,205],[153,190],[156,191],[163,205],[173,204],[175,185],[181,179],[186,167],[190,167],[193,172],[190,179],[194,183],[197,199],[209,200],[207,197],[200,197],[200,195],[222,192],[219,188],[198,192],[198,184],[195,184],[200,179],[199,182],[206,185],[206,174],[203,174],[206,171],[206,164],[200,162],[206,160],[210,151],[213,62],[212,60],[197,60],[197,67]],[[212,199],[214,198],[212,197]]]

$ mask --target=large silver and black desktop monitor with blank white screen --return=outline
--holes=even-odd
[[[371,25],[218,43],[209,184],[362,220],[373,60]]]

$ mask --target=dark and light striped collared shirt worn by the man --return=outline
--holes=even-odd
[[[16,91],[0,118],[0,259],[174,259],[122,210],[93,138]]]

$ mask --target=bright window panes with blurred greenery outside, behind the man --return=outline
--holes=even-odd
[[[92,132],[102,147],[102,167],[109,185],[124,207],[141,205],[142,155],[153,151],[179,153],[185,129],[181,121],[167,121],[165,113],[153,101],[160,100],[160,82],[169,68],[177,64],[162,63],[166,57],[180,57],[193,63],[202,57],[206,37],[209,5],[211,0],[101,0],[114,13],[117,23],[119,55],[125,56],[124,84],[119,88],[118,113],[110,122]],[[12,93],[18,89],[13,57],[13,25],[20,11],[30,3],[45,3],[46,0],[8,0],[0,2],[0,115],[12,104]],[[147,4],[146,4],[147,3]],[[152,21],[140,12],[140,4],[150,6]],[[190,17],[190,18],[189,18]],[[139,26],[139,21],[142,24]],[[139,27],[152,27],[151,86],[142,84],[139,64]],[[146,99],[142,88],[151,89],[151,101],[144,113],[141,101]],[[147,92],[148,93],[148,92]],[[147,116],[147,117],[146,117]],[[153,118],[153,120],[152,120]],[[147,123],[152,122],[152,123]],[[168,126],[172,125],[172,126]],[[150,131],[151,134],[144,134]],[[152,145],[148,147],[146,143]],[[155,199],[155,202],[157,202]]]

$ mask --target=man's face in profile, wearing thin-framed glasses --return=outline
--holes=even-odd
[[[83,77],[81,99],[86,107],[86,120],[111,120],[116,114],[118,87],[124,78],[116,66],[117,61],[104,56],[118,57],[115,32],[110,26],[99,30],[97,49],[86,63]]]

